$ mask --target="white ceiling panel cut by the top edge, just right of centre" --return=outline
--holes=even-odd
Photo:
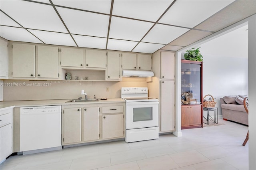
[[[115,0],[113,15],[156,22],[173,0]]]

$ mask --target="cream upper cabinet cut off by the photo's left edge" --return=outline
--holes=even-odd
[[[1,38],[0,48],[0,77],[8,77],[8,42]]]

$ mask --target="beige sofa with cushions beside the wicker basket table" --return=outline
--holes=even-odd
[[[243,105],[243,96],[224,96],[220,98],[220,107],[222,109],[222,116],[225,121],[234,121],[248,125],[248,114]]]

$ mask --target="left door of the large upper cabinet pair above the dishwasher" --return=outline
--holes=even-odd
[[[12,77],[35,77],[36,46],[12,43]]]

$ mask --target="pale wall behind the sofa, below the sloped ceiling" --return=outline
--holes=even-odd
[[[204,54],[203,62],[203,95],[216,98],[222,115],[220,97],[248,95],[248,58]]]

